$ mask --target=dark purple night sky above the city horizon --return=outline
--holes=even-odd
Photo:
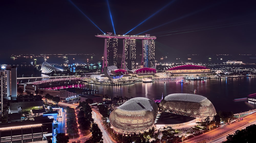
[[[127,35],[157,36],[156,56],[256,53],[253,0],[1,1],[0,47],[7,49],[5,55],[103,54],[104,39],[94,36],[102,32],[92,22],[105,33],[114,32],[108,2],[116,34],[147,19]]]

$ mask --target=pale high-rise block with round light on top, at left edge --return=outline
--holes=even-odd
[[[17,98],[17,67],[1,66],[0,70],[0,93],[1,93],[1,111],[3,113],[3,100],[10,100]]]

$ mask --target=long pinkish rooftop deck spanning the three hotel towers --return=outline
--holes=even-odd
[[[100,38],[118,38],[118,39],[156,39],[156,36],[129,36],[129,35],[95,35]]]

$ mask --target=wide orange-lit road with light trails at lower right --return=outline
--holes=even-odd
[[[216,128],[210,132],[196,136],[185,142],[192,143],[192,142],[199,142],[202,140],[206,140],[206,142],[222,142],[226,140],[226,136],[228,136],[229,134],[233,134],[235,131],[244,129],[247,126],[255,123],[256,123],[256,113],[253,113],[249,116],[243,117],[243,120],[240,122],[233,122],[228,126]]]

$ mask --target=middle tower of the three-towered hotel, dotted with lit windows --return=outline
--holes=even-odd
[[[129,70],[136,69],[136,39],[123,39],[125,68]]]

